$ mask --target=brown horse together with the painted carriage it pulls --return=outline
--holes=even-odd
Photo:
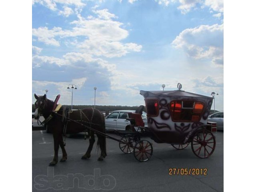
[[[134,157],[145,162],[153,154],[151,138],[157,143],[171,144],[177,150],[182,150],[191,144],[192,151],[199,158],[208,158],[214,152],[216,140],[214,132],[217,131],[216,124],[207,124],[213,98],[181,90],[172,91],[144,91],[140,94],[144,96],[147,112],[148,126],[144,126],[142,111],[144,106],[140,106],[134,113],[128,113],[127,120],[130,125],[124,131],[116,133],[122,136],[117,139],[106,134],[105,120],[103,114],[94,108],[85,108],[72,111],[60,104],[57,105],[59,95],[56,100],[50,101],[44,96],[36,98],[36,116],[43,114],[49,127],[53,128],[54,136],[54,159],[50,166],[58,162],[58,147],[62,149],[61,162],[67,159],[64,148],[62,134],[82,132],[89,130],[90,145],[82,159],[90,158],[90,152],[95,142],[94,133],[98,137],[97,144],[101,154],[98,160],[106,157],[106,138],[119,142],[120,150],[126,154],[133,153]]]

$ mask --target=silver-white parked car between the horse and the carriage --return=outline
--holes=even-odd
[[[106,130],[126,130],[126,126],[130,125],[130,121],[126,120],[126,118],[128,118],[128,113],[134,112],[135,110],[113,111],[108,116],[106,116]],[[141,116],[145,124],[144,126],[148,126],[147,114],[145,112],[142,112]]]

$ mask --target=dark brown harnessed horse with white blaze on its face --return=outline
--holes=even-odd
[[[103,158],[107,156],[106,137],[100,134],[106,133],[105,117],[102,112],[94,108],[84,108],[73,111],[70,110],[68,113],[69,118],[67,122],[63,122],[63,111],[65,107],[61,106],[58,112],[53,112],[54,101],[46,98],[46,94],[44,94],[44,96],[37,96],[34,94],[34,97],[36,98],[34,118],[37,120],[39,119],[40,115],[42,115],[45,120],[50,119],[47,122],[47,127],[53,134],[54,158],[50,162],[49,166],[54,166],[58,163],[59,146],[62,149],[62,158],[60,162],[65,162],[68,158],[62,138],[63,130],[66,130],[66,134],[76,134],[79,132],[84,132],[85,127],[89,129],[88,132],[90,144],[86,153],[82,156],[82,159],[88,159],[91,156],[92,147],[95,142],[93,130],[96,130],[95,133],[98,137],[97,148],[100,147],[101,150],[98,160],[103,160]]]

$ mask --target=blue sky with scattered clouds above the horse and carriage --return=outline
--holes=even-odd
[[[96,87],[96,105],[138,106],[181,83],[223,110],[223,14],[223,0],[32,0],[32,102],[71,104],[74,84],[73,105]]]

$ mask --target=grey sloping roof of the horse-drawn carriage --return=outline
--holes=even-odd
[[[204,96],[196,93],[186,92],[184,90],[172,90],[172,91],[144,91],[140,90],[140,94],[147,97],[176,97],[176,96],[184,96],[184,97],[193,97],[193,98],[207,98],[212,99],[210,96]]]

